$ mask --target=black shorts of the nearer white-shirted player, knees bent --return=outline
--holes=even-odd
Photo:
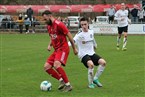
[[[82,58],[82,63],[84,64],[84,66],[85,66],[86,68],[88,68],[87,62],[88,62],[89,60],[92,60],[93,63],[94,63],[94,65],[98,66],[98,65],[99,65],[99,63],[98,63],[99,59],[101,59],[101,57],[100,57],[99,55],[97,55],[97,54],[94,54],[94,55],[92,55],[92,56],[85,55],[85,56]]]

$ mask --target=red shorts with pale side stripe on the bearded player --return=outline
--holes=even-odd
[[[57,51],[54,51],[50,55],[50,57],[47,59],[47,62],[53,66],[54,61],[59,61],[62,63],[63,66],[65,66],[68,55],[69,55],[69,49],[68,50],[57,50]]]

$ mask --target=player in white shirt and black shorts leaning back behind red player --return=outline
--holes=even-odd
[[[78,57],[88,69],[88,87],[95,88],[95,84],[98,87],[102,87],[98,79],[105,69],[106,61],[94,51],[97,44],[94,39],[94,31],[89,29],[89,19],[85,17],[81,18],[80,25],[81,31],[79,31],[73,39],[78,47]],[[95,75],[94,66],[98,66]]]

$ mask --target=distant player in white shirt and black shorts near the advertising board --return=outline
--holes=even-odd
[[[128,32],[128,10],[125,9],[125,4],[121,3],[121,9],[115,13],[115,20],[118,22],[118,36],[117,36],[117,50],[119,50],[121,35],[124,32],[123,46],[122,50],[127,50],[127,32]]]

